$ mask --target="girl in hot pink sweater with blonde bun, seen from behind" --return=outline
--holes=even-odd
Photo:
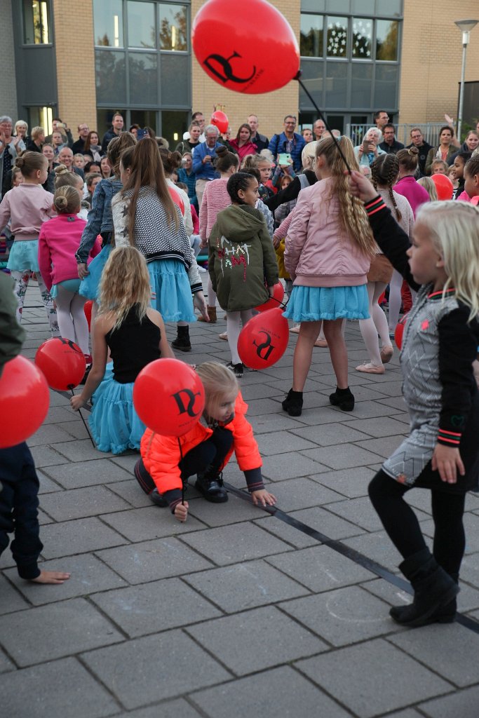
[[[70,339],[83,351],[87,363],[88,323],[85,317],[85,297],[78,294],[75,252],[80,246],[86,222],[77,217],[81,198],[75,187],[59,187],[53,196],[57,216],[42,225],[38,238],[38,264],[48,291],[57,305],[58,327],[64,339]],[[90,261],[100,252],[98,238],[90,252]]]

